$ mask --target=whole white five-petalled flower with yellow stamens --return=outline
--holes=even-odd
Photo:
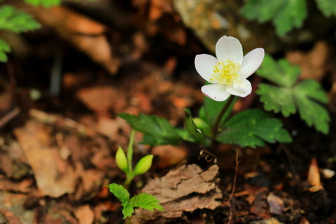
[[[257,70],[264,59],[265,51],[255,48],[243,57],[243,48],[237,38],[222,36],[216,43],[216,57],[196,55],[195,67],[209,85],[202,86],[202,92],[216,101],[224,101],[235,95],[246,97],[252,91],[246,79]]]

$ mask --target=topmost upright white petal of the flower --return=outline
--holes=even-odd
[[[219,60],[232,60],[241,64],[243,61],[243,47],[237,38],[222,36],[216,43],[216,57]]]

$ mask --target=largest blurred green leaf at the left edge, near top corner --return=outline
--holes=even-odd
[[[40,28],[41,25],[31,15],[13,6],[1,6],[0,29],[7,29],[16,33]]]

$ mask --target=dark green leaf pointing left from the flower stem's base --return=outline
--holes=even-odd
[[[165,118],[158,116],[144,115],[133,116],[129,113],[120,113],[119,116],[127,121],[134,130],[145,134],[142,144],[176,145],[182,141],[174,127]]]

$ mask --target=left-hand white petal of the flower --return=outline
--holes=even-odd
[[[214,83],[210,82],[209,78],[213,74],[214,66],[217,63],[218,60],[212,55],[202,54],[196,55],[195,57],[196,71],[200,74],[200,76],[202,76],[202,78],[207,80],[209,83]]]

